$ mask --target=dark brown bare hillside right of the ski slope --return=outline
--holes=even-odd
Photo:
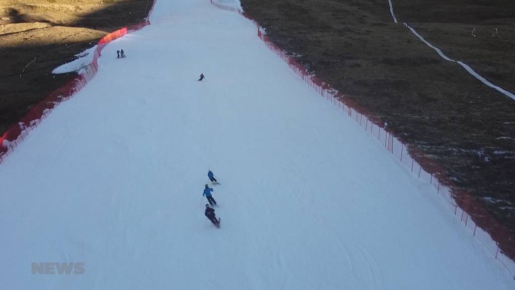
[[[478,3],[393,1],[399,22],[513,91],[515,2]],[[242,0],[242,6],[272,41],[388,122],[515,233],[514,100],[394,24],[387,0]]]

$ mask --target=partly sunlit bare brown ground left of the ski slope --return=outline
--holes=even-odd
[[[152,1],[0,1],[0,134],[75,76],[54,75],[56,67],[111,31],[139,23]]]

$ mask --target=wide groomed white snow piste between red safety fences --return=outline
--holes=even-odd
[[[151,21],[0,166],[2,289],[513,289],[250,21],[207,0],[158,1]]]

